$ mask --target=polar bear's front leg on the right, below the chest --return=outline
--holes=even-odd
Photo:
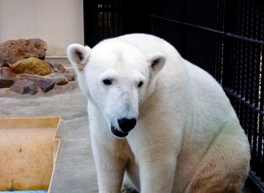
[[[181,137],[152,133],[153,129],[140,131],[131,131],[132,135],[127,137],[139,164],[140,193],[171,193],[177,186],[174,184],[175,170]],[[133,140],[136,138],[134,134],[140,136],[137,141]]]

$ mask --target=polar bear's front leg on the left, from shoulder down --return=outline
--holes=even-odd
[[[113,136],[100,110],[88,105],[89,128],[99,193],[120,193],[127,164],[126,139]]]

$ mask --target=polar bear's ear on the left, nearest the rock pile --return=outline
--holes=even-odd
[[[91,48],[80,44],[71,44],[67,49],[67,56],[70,63],[75,68],[76,72],[82,72],[84,66],[89,61]]]

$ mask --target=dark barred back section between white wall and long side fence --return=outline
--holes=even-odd
[[[83,0],[84,44],[95,46],[103,39],[145,32],[144,3],[138,0]],[[140,6],[138,6],[140,5]]]

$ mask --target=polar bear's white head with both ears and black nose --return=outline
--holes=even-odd
[[[138,48],[108,40],[93,49],[72,44],[67,55],[82,93],[102,111],[112,133],[126,137],[136,125],[139,105],[154,91],[165,54],[145,56]]]

